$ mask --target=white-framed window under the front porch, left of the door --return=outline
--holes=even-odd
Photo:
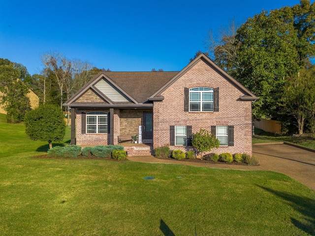
[[[108,113],[87,113],[87,133],[108,133]]]

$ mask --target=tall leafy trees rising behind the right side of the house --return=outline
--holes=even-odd
[[[253,117],[282,121],[285,131],[315,132],[315,3],[234,20],[206,40],[212,59],[260,99]]]

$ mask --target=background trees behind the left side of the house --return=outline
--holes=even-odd
[[[40,74],[28,73],[22,64],[8,59],[0,59],[0,103],[7,112],[8,122],[21,122],[30,110],[30,100],[26,94],[32,89],[39,97],[40,104],[58,105],[63,103],[81,89],[100,71],[87,61],[68,59],[58,52],[46,53],[41,57]]]

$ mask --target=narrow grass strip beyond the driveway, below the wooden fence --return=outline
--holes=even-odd
[[[281,136],[273,133],[264,132],[261,129],[255,128],[255,136],[252,138],[252,144],[258,143],[273,143],[273,142],[287,142],[300,145],[306,148],[315,149],[315,136],[305,134],[301,137],[297,136]]]

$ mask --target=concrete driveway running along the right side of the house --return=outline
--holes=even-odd
[[[315,152],[274,143],[255,144],[252,154],[263,169],[287,175],[315,190]]]

